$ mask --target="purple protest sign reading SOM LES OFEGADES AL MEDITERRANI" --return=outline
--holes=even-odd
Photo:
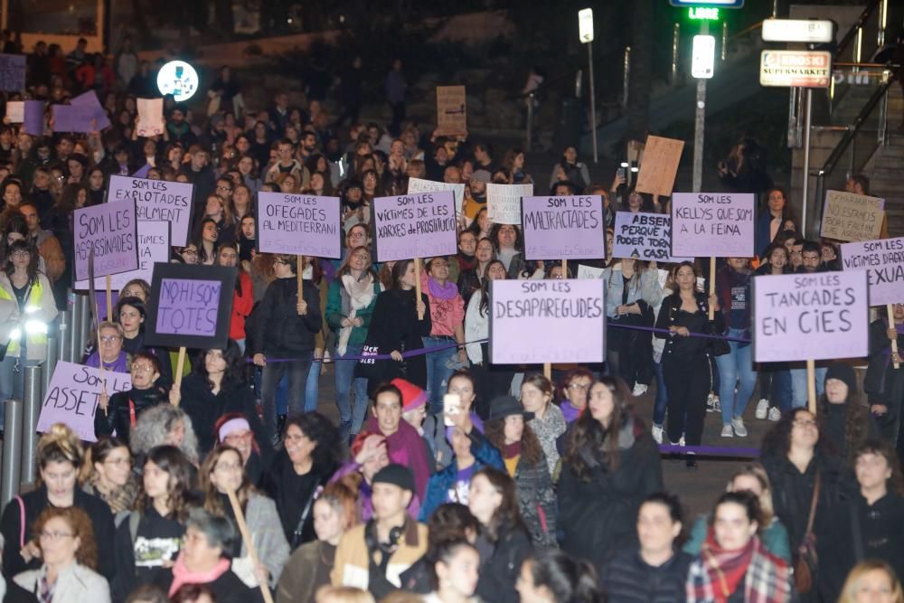
[[[339,197],[258,193],[258,250],[315,258],[342,256]]]

